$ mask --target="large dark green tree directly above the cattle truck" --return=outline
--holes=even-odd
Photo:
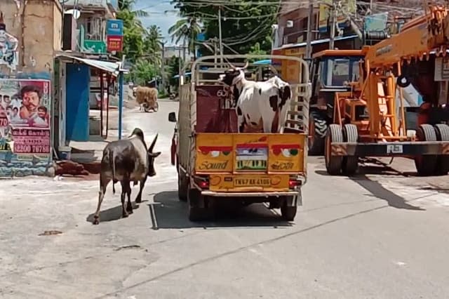
[[[254,5],[250,2],[250,0],[227,0],[216,1],[214,5],[199,6],[196,0],[173,0],[172,4],[180,9],[182,16],[200,18],[208,39],[219,36],[217,15],[221,9],[222,41],[227,46],[238,53],[246,54],[258,43],[260,51],[269,53],[272,47],[272,25],[276,23],[279,4]],[[223,49],[225,54],[232,54],[227,46]],[[204,47],[200,47],[200,51],[203,55],[210,54]]]

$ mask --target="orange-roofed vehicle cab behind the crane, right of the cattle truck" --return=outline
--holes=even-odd
[[[363,58],[361,50],[325,50],[314,54],[310,66],[311,105],[331,104],[335,92],[348,91],[347,84],[360,77],[359,65]]]

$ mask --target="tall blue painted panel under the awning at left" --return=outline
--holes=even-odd
[[[66,73],[66,140],[88,141],[91,70],[67,63]]]

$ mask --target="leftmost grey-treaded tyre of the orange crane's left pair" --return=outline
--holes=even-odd
[[[324,161],[326,163],[326,171],[330,175],[340,175],[342,172],[343,157],[332,156],[330,149],[331,142],[343,142],[342,127],[338,124],[330,124],[326,135],[326,147],[324,148]]]

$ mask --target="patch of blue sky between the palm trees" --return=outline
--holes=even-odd
[[[161,27],[162,35],[168,45],[171,45],[171,38],[168,36],[168,28],[170,28],[180,17],[175,12],[166,13],[164,11],[173,11],[173,5],[169,0],[138,0],[136,1],[135,10],[145,10],[149,13],[149,17],[141,18],[145,27],[158,25]]]

